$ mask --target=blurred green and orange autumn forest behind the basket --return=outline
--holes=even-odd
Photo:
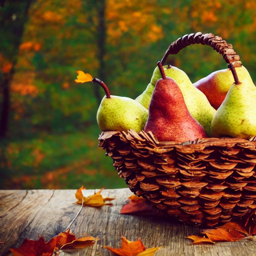
[[[0,24],[2,189],[126,187],[98,148],[104,91],[76,84],[76,70],[136,98],[169,44],[201,31],[233,44],[256,79],[254,0],[1,0]],[[192,82],[226,68],[202,45],[168,64]]]

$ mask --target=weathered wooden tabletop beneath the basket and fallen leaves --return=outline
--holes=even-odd
[[[97,191],[97,190],[96,190]],[[0,255],[11,255],[10,247],[19,247],[25,238],[50,240],[63,231],[75,217],[80,205],[74,204],[76,190],[0,190]],[[85,196],[95,190],[85,190]],[[186,236],[200,229],[163,217],[121,215],[122,206],[132,193],[128,188],[103,190],[103,197],[114,197],[113,207],[83,207],[71,225],[77,238],[99,237],[90,247],[61,253],[72,256],[110,256],[103,246],[121,247],[121,235],[135,241],[139,237],[146,248],[160,247],[155,256],[205,255],[250,256],[256,254],[256,238],[214,245],[191,245]]]

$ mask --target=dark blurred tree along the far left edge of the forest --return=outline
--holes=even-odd
[[[1,1],[0,24],[0,90],[1,90],[1,116],[0,137],[4,138],[7,133],[8,116],[10,110],[10,82],[14,74],[17,54],[21,43],[24,26],[31,0],[27,1]]]

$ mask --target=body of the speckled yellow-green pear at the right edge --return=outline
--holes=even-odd
[[[256,87],[251,77],[239,81],[232,84],[212,119],[213,137],[256,136]]]

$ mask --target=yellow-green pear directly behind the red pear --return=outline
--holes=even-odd
[[[216,110],[211,106],[206,96],[193,86],[184,71],[171,65],[165,65],[163,68],[165,75],[173,78],[178,84],[190,114],[204,127],[207,135],[211,136],[211,121]],[[156,67],[146,90],[135,99],[145,108],[148,108],[155,84],[160,78],[160,71]],[[166,104],[168,104],[168,102],[166,102]]]

